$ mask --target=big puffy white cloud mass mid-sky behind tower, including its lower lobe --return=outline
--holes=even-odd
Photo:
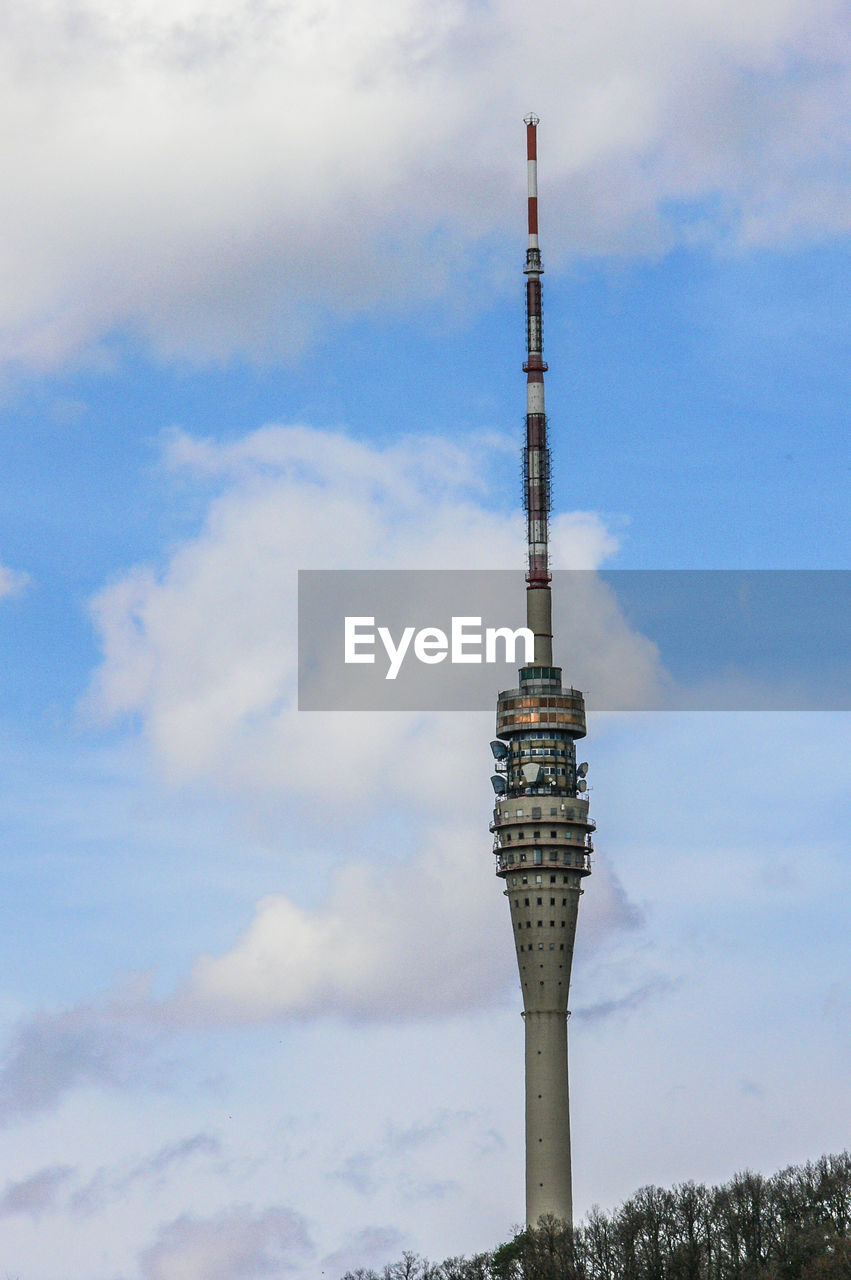
[[[490,717],[299,713],[296,571],[453,567],[462,556],[467,567],[520,564],[520,516],[472,500],[485,477],[471,451],[427,438],[378,449],[266,428],[221,447],[177,436],[168,461],[224,488],[160,573],[134,571],[96,602],[105,658],[93,701],[106,716],[139,716],[175,780],[276,796],[290,865],[315,860],[317,845],[344,864],[319,906],[301,906],[298,887],[264,899],[232,948],[197,963],[170,1015],[398,1019],[499,1000],[512,961],[502,913],[482,893]],[[594,516],[554,521],[557,563],[591,567],[613,547]],[[600,678],[609,666],[636,687],[658,678],[610,596],[589,602],[593,643],[577,643],[598,655]],[[607,879],[600,936],[635,923]]]

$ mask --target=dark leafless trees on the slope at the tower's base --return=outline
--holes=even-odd
[[[642,1187],[573,1229],[541,1219],[471,1258],[404,1253],[342,1280],[851,1280],[850,1222],[845,1151],[720,1187]]]

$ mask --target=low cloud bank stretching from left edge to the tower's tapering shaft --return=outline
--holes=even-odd
[[[0,1064],[0,1126],[50,1111],[78,1088],[138,1088],[142,1064],[146,1083],[156,1085],[157,1050],[187,1029],[329,1015],[411,1023],[503,1004],[516,980],[514,960],[502,904],[482,892],[479,835],[476,828],[433,831],[435,847],[408,865],[344,867],[312,909],[284,893],[267,895],[233,946],[218,956],[201,956],[170,997],[154,1000],[139,984],[122,1000],[23,1019]],[[641,913],[600,859],[594,888],[584,908],[577,969],[594,965],[609,942],[642,924]],[[610,983],[598,975],[603,989],[619,983],[617,972]],[[651,980],[577,1012],[609,1018],[658,989]],[[197,1134],[129,1169],[104,1167],[74,1192],[70,1207],[95,1212],[138,1181],[156,1180],[183,1160],[218,1151],[216,1138]]]

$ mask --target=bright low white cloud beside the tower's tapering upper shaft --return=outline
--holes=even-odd
[[[175,1012],[189,1020],[411,1020],[504,1001],[514,959],[503,904],[489,892],[480,831],[433,828],[429,836],[434,845],[412,864],[339,872],[317,909],[284,893],[264,899],[230,950],[197,963]],[[604,863],[594,890],[582,915],[593,954],[609,934],[641,923]]]

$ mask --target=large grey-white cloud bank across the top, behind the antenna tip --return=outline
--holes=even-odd
[[[836,0],[33,0],[0,29],[0,358],[264,357],[457,300],[520,225],[530,106],[552,259],[845,232],[850,49]]]

